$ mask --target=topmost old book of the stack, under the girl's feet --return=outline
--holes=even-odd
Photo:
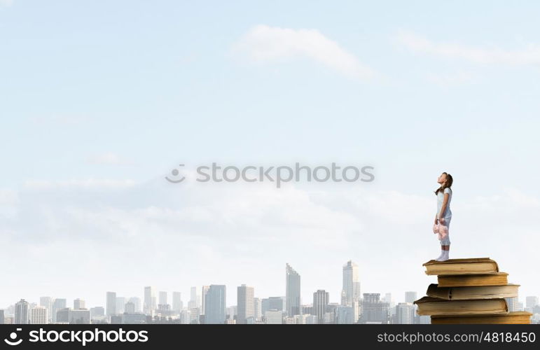
[[[426,274],[492,274],[499,272],[499,265],[490,258],[429,260],[422,264]]]

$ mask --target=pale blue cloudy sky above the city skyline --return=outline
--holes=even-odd
[[[424,295],[450,258],[540,295],[540,3],[0,0],[0,307],[226,284]],[[364,165],[354,183],[172,184],[185,164]],[[193,173],[191,173],[193,175]]]

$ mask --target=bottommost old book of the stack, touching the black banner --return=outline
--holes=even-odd
[[[462,316],[431,316],[431,324],[531,324],[532,314],[528,311],[511,311],[508,314],[481,314]]]

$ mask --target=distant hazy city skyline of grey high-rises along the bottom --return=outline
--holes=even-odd
[[[391,293],[360,293],[359,267],[351,260],[343,265],[340,302],[330,302],[326,290],[316,290],[310,304],[300,299],[300,274],[285,266],[285,295],[255,297],[255,288],[237,286],[237,304],[226,305],[226,286],[191,287],[184,306],[180,292],[144,287],[143,297],[105,294],[103,306],[90,307],[83,299],[40,297],[37,302],[21,299],[0,309],[0,324],[368,324],[431,323],[430,316],[418,316],[413,302],[417,292],[405,292],[397,304]],[[423,293],[422,293],[423,295]],[[420,295],[420,297],[422,297]],[[540,323],[539,297],[527,296],[525,305],[518,297],[506,298],[508,311],[532,312],[532,323]]]

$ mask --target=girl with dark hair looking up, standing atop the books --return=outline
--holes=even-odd
[[[452,211],[450,211],[450,201],[452,200],[452,175],[443,172],[438,176],[437,183],[441,186],[435,190],[437,196],[437,214],[435,215],[434,232],[438,232],[438,239],[441,241],[441,255],[435,260],[448,260],[450,253],[450,221]]]

